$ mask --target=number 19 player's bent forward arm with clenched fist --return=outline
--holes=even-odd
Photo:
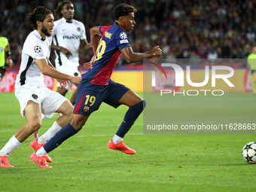
[[[148,59],[151,56],[159,57],[162,54],[162,50],[159,46],[155,46],[152,50],[145,53],[133,53],[132,47],[124,47],[121,50],[126,62],[139,62],[143,59]]]

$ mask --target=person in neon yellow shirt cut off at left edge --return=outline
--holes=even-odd
[[[5,54],[6,54],[6,64],[10,67],[14,65],[13,60],[11,59],[11,49],[8,42],[8,38],[0,37],[0,82],[5,76]]]

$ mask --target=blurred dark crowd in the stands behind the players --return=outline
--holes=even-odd
[[[39,5],[53,11],[60,1],[0,0],[0,36],[11,43],[15,65],[26,36],[31,32],[26,15]],[[136,9],[136,27],[130,32],[135,52],[160,45],[169,59],[245,59],[255,45],[256,0],[73,0],[75,20],[84,23],[87,40],[90,28],[114,23],[112,13],[120,3]],[[93,51],[81,50],[80,63]],[[119,65],[125,61],[120,59]]]

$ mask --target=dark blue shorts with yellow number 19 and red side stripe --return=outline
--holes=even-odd
[[[90,116],[93,111],[98,110],[102,102],[117,108],[120,105],[119,100],[128,90],[130,90],[128,87],[117,84],[111,79],[108,85],[91,84],[82,79],[75,99],[74,114]]]

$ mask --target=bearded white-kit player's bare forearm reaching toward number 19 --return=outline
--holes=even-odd
[[[72,77],[70,75],[58,72],[56,69],[53,69],[51,66],[48,65],[46,59],[35,59],[35,63],[38,65],[38,68],[40,69],[42,74],[47,75],[51,78],[72,81],[72,83],[74,84],[79,84],[81,81],[81,77]]]

